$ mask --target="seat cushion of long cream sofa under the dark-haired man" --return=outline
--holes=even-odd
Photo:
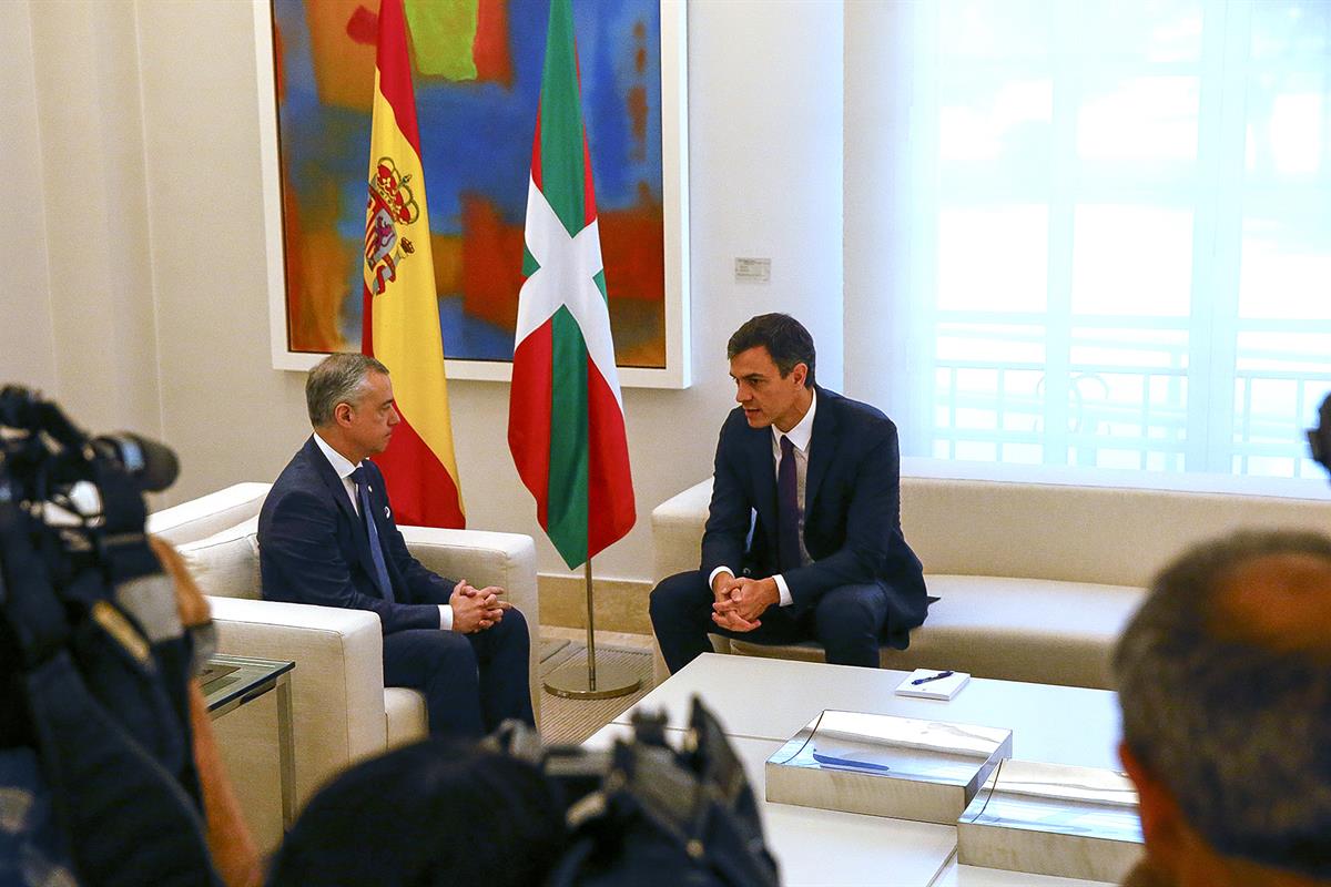
[[[976,677],[1113,689],[1114,638],[1145,590],[1040,578],[928,576],[940,600],[910,632],[905,650],[885,648],[882,668],[937,668]],[[731,641],[735,653],[823,661],[816,644],[761,646]]]

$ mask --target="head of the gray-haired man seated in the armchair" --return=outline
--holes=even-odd
[[[389,368],[365,354],[330,354],[305,380],[310,424],[330,447],[359,464],[389,448],[401,422]]]

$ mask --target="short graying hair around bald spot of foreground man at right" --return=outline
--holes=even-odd
[[[1331,875],[1327,644],[1276,650],[1225,630],[1222,592],[1271,555],[1331,564],[1331,539],[1240,532],[1186,552],[1154,581],[1114,670],[1123,741],[1218,852]]]

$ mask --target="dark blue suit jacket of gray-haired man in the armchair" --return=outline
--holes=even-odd
[[[374,581],[370,536],[342,480],[311,436],[282,469],[258,516],[264,598],[374,610],[385,634],[439,628],[451,582],[411,557],[389,508],[383,475],[369,459],[370,511],[395,601]]]

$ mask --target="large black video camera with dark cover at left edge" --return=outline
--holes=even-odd
[[[144,531],[144,491],[176,469],[161,444],[92,438],[40,395],[0,390],[0,793],[37,811],[0,844],[0,880],[40,859],[61,883],[220,883],[189,721],[194,636]]]

